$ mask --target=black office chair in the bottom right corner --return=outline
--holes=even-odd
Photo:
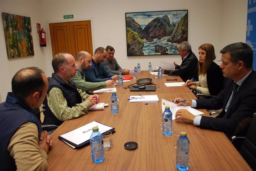
[[[256,170],[256,113],[253,114],[252,122],[247,130],[245,137],[232,137],[232,144],[237,140],[243,140],[239,153],[249,164],[252,170]]]

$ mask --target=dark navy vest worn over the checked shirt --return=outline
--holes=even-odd
[[[47,93],[49,91],[56,87],[60,89],[63,93],[64,98],[66,99],[68,103],[68,107],[73,107],[78,103],[82,103],[81,95],[79,94],[75,83],[72,80],[69,80],[70,85],[63,81],[59,76],[57,76],[55,73],[52,73],[52,78],[49,80],[49,88]],[[45,105],[45,119],[43,120],[43,124],[54,124],[60,126],[63,122],[60,121],[50,110],[48,104],[47,104],[47,97],[45,98],[43,104]],[[45,130],[49,131],[52,130],[52,127],[46,128]]]

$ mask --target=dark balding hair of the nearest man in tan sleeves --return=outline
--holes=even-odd
[[[26,73],[26,75],[21,75],[21,71],[26,69],[32,71]],[[45,88],[42,73],[44,72],[37,67],[27,67],[16,72],[12,79],[13,95],[24,99],[27,98],[31,93],[39,92],[41,97],[43,89]]]

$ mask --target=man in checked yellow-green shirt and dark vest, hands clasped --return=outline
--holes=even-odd
[[[65,120],[75,119],[88,113],[91,106],[99,102],[99,96],[92,96],[77,89],[71,80],[75,76],[78,67],[75,58],[68,53],[59,53],[52,59],[54,73],[49,80],[47,98],[44,105],[46,109],[43,124],[59,126]],[[46,130],[53,130],[48,127]]]

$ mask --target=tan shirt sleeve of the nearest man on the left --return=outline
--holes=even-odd
[[[27,122],[20,126],[10,139],[7,147],[15,159],[17,170],[46,171],[47,153],[39,145],[38,128],[35,123]]]

